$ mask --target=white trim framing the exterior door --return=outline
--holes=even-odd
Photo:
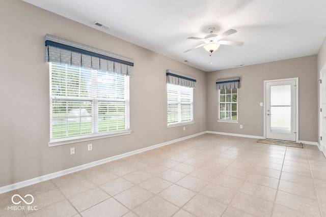
[[[264,111],[263,111],[263,119],[264,119],[264,138],[266,139],[266,83],[267,82],[275,82],[275,81],[288,81],[295,80],[295,142],[299,141],[299,78],[284,78],[284,79],[275,79],[275,80],[265,80],[264,81]]]

